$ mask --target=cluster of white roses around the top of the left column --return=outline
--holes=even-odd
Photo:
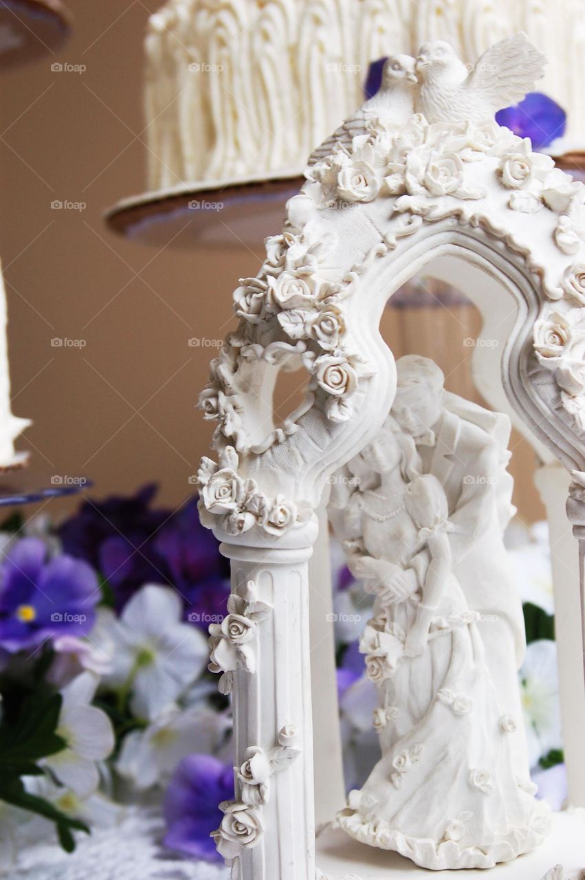
[[[311,516],[308,507],[291,502],[284,495],[268,498],[259,491],[255,480],[245,480],[238,474],[238,464],[238,453],[232,446],[220,452],[219,465],[211,458],[201,459],[197,473],[201,524],[209,529],[219,525],[232,535],[258,525],[278,538]]]

